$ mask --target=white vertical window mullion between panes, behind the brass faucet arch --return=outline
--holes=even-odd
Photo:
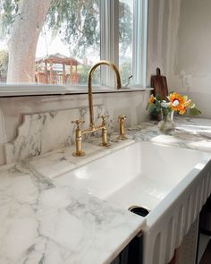
[[[101,0],[100,9],[101,44],[100,58],[119,65],[119,1]],[[101,68],[102,85],[114,87],[114,72]]]

